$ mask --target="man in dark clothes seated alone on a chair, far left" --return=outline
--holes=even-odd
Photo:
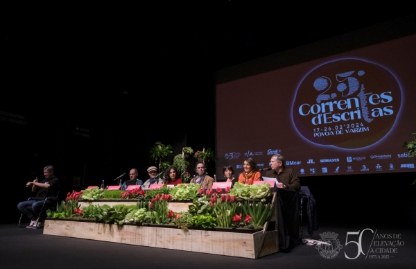
[[[26,228],[29,229],[38,229],[43,227],[43,220],[46,216],[46,208],[42,211],[42,216],[40,216],[40,211],[42,210],[45,199],[51,196],[57,196],[58,194],[59,180],[53,175],[53,166],[49,165],[44,168],[44,177],[44,180],[41,182],[38,182],[36,177],[33,182],[26,183],[26,187],[32,186],[32,191],[37,192],[36,196],[31,200],[19,202],[17,205],[17,208],[21,211],[21,213],[31,219],[31,224],[26,226]],[[46,200],[45,207],[51,207],[55,205],[55,203],[56,202],[53,200]],[[29,205],[32,205],[35,215],[26,209]]]

